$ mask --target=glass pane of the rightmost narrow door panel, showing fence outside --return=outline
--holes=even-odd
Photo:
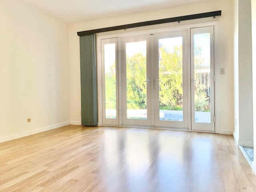
[[[194,35],[195,122],[210,123],[210,33]]]

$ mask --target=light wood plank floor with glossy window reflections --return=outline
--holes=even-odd
[[[0,192],[248,190],[256,176],[230,135],[65,126],[0,143]]]

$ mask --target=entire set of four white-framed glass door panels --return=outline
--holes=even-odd
[[[101,40],[103,124],[214,131],[213,33]]]

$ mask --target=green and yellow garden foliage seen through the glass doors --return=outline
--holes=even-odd
[[[200,66],[202,48],[195,47],[195,66]],[[116,66],[115,63],[105,72],[106,109],[116,109]],[[146,109],[146,56],[138,52],[126,58],[127,108]],[[159,98],[162,110],[183,110],[182,87],[182,46],[170,52],[164,47],[159,49]],[[209,98],[206,87],[195,82],[195,110],[209,111]],[[110,93],[110,94],[109,94]]]

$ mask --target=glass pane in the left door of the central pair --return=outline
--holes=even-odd
[[[146,41],[126,43],[128,119],[147,119]]]

